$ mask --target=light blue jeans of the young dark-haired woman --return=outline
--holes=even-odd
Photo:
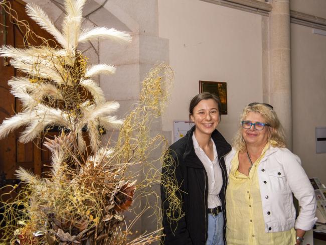
[[[208,214],[206,245],[224,245],[223,240],[223,213]]]

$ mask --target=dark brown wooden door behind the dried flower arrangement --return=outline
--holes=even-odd
[[[17,12],[19,20],[27,20],[30,28],[39,36],[46,39],[52,39],[45,30],[41,29],[34,21],[32,21],[25,13],[25,5],[21,0],[9,1],[11,8]],[[20,28],[10,15],[6,14],[4,9],[1,9],[2,30],[0,34],[0,45],[11,45],[14,47],[24,47],[24,43],[30,43],[34,46],[42,44],[42,40],[29,37],[26,40],[26,30]],[[53,42],[55,45],[55,43]],[[21,110],[20,102],[10,93],[8,80],[12,76],[22,76],[24,74],[17,71],[10,65],[10,60],[1,58],[0,61],[0,122],[5,118],[11,117],[15,112]],[[49,165],[49,152],[42,144],[42,141],[34,141],[28,144],[22,144],[18,141],[21,130],[10,134],[6,139],[0,141],[0,187],[6,184],[15,184],[15,170],[20,166],[30,169],[35,174],[40,175],[47,171]],[[50,132],[47,137],[55,135],[56,132]]]

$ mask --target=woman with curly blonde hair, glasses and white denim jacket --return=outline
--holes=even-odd
[[[227,244],[293,245],[314,225],[316,201],[300,159],[285,148],[273,107],[248,104],[226,158]],[[292,193],[301,206],[295,219]]]

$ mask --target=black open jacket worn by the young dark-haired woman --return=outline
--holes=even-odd
[[[162,238],[164,244],[169,245],[205,245],[207,238],[207,196],[208,182],[204,165],[195,153],[192,136],[195,126],[188,131],[187,135],[170,146],[168,154],[170,160],[167,160],[162,169],[161,177],[161,200],[163,212],[163,227],[165,236]],[[212,133],[212,139],[216,145],[219,158],[219,164],[222,170],[223,185],[220,192],[222,210],[224,216],[224,242],[225,240],[225,191],[227,186],[227,172],[224,162],[224,156],[231,151],[231,146],[224,137],[215,130]],[[178,208],[174,208],[175,202],[171,202],[171,180],[177,180],[180,190],[177,195],[182,203],[184,215],[178,213]],[[171,192],[172,191],[172,192]],[[171,205],[171,209],[169,206]],[[173,210],[173,212],[170,212]],[[171,213],[178,221],[169,218]]]

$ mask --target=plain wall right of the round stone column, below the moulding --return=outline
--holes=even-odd
[[[325,6],[326,9],[326,6]],[[293,152],[309,177],[326,184],[326,153],[315,153],[315,127],[326,127],[326,36],[291,24]]]

